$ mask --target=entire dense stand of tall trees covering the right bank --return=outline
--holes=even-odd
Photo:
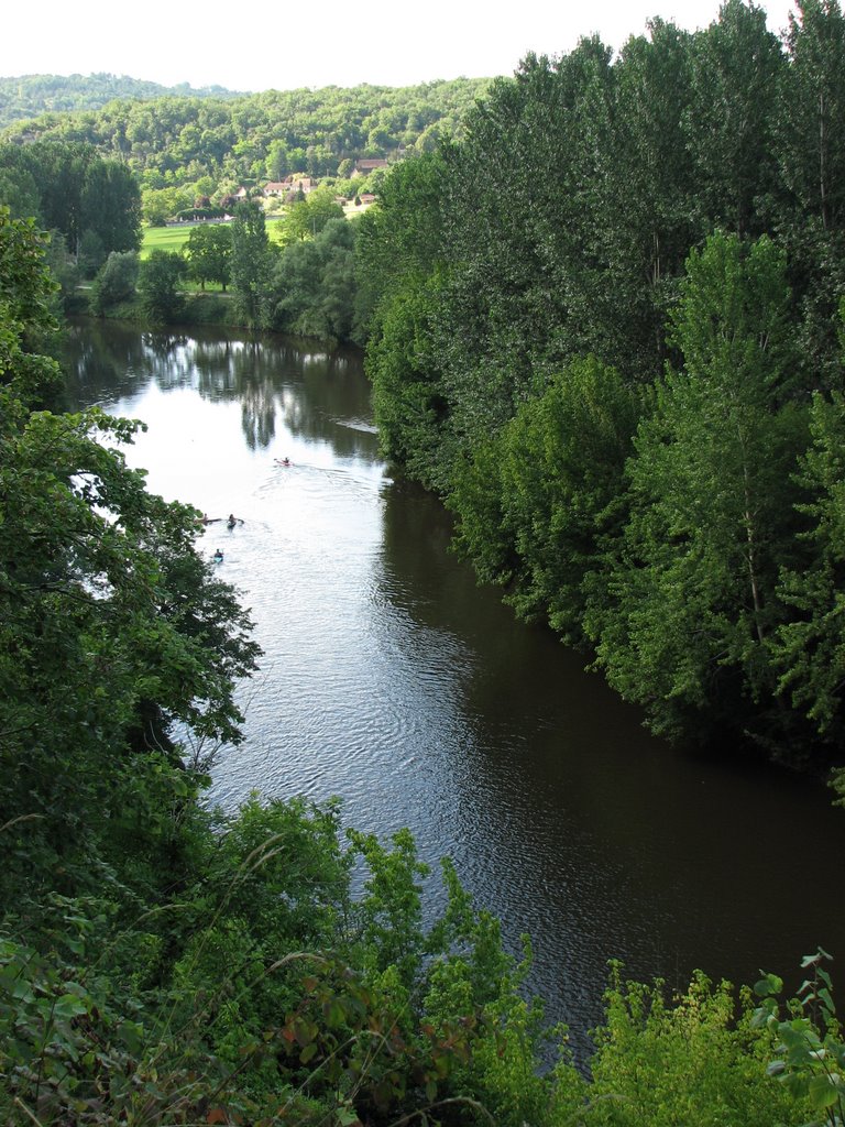
[[[670,738],[842,761],[845,21],[530,56],[362,219],[384,451]]]

